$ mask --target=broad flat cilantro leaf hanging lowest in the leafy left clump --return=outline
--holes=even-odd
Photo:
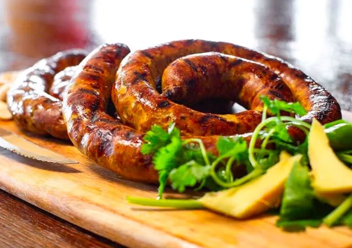
[[[184,192],[187,186],[193,187],[209,176],[210,165],[202,166],[191,160],[182,166],[172,169],[169,174],[171,187],[179,192]]]

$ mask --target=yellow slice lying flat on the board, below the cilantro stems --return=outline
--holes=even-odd
[[[269,168],[266,174],[235,188],[207,193],[199,201],[209,209],[239,219],[278,207],[290,171],[301,157],[300,154],[291,156],[283,151],[280,161]]]

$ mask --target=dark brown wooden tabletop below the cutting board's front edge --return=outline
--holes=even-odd
[[[0,247],[122,247],[0,191]]]

